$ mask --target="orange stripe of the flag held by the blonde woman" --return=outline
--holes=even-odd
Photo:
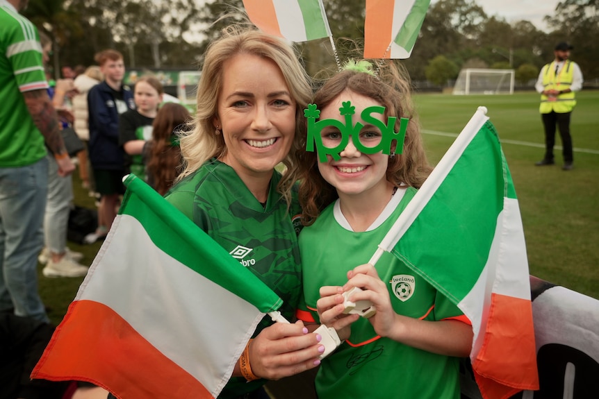
[[[69,306],[31,377],[88,381],[117,398],[167,399],[174,389],[193,393],[194,398],[213,398],[201,382],[154,348],[113,309],[91,300]],[[165,380],[170,384],[165,385]]]

